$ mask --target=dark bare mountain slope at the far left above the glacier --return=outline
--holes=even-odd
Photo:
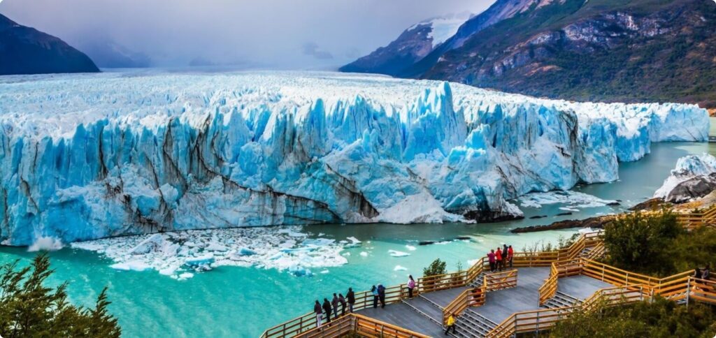
[[[0,75],[97,72],[87,55],[0,14]]]

